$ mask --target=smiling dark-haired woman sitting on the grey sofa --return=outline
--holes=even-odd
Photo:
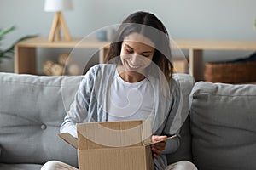
[[[95,65],[80,83],[74,102],[61,125],[61,133],[77,137],[76,124],[152,120],[152,141],[172,136],[178,114],[180,89],[172,79],[170,40],[154,15],[137,12],[119,26],[105,65]],[[178,136],[178,135],[177,135]],[[152,145],[155,169],[196,169],[189,161],[167,166],[166,154],[175,152],[179,137]],[[69,168],[49,161],[42,169]]]

